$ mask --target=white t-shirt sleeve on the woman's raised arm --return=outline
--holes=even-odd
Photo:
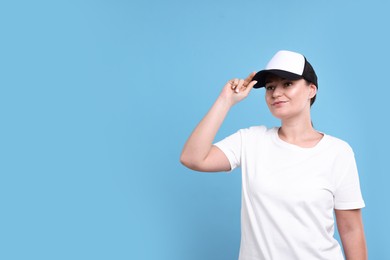
[[[226,155],[230,163],[230,170],[241,165],[241,131],[238,131],[214,144]]]

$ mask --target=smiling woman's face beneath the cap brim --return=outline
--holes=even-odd
[[[265,84],[265,100],[275,117],[289,119],[310,113],[310,99],[316,90],[304,79],[288,80],[270,75]]]

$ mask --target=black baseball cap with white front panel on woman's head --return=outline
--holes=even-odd
[[[266,83],[265,80],[269,74],[274,74],[290,80],[303,78],[316,85],[318,89],[317,75],[313,67],[305,56],[297,52],[286,50],[278,51],[268,62],[265,69],[257,72],[253,77],[253,80],[257,81],[256,85],[253,87],[264,87]]]

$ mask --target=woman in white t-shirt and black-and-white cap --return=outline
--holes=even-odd
[[[230,108],[260,87],[281,127],[241,129],[213,144]],[[367,259],[354,154],[313,128],[317,87],[303,55],[279,51],[264,70],[228,81],[184,146],[180,159],[190,169],[241,167],[240,260],[344,259],[333,213],[346,259]]]

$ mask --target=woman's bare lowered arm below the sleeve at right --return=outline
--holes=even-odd
[[[367,260],[366,239],[360,209],[335,210],[337,228],[347,260]]]

